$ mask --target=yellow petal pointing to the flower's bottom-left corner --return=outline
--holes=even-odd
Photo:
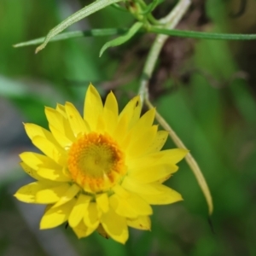
[[[75,200],[68,201],[60,207],[51,207],[47,212],[44,213],[43,218],[40,222],[40,229],[51,229],[59,226],[67,221],[70,212],[73,209]]]

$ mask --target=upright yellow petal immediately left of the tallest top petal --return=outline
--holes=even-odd
[[[79,111],[72,103],[66,102],[65,109],[67,112],[67,119],[69,120],[69,124],[75,137],[78,137],[79,133],[89,132],[89,127],[85,124],[84,119],[82,119]]]

